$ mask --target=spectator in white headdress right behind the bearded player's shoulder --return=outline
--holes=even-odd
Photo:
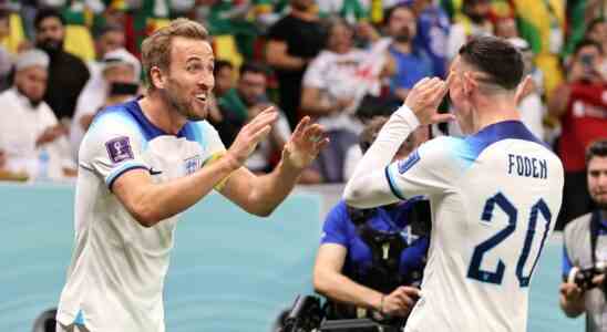
[[[134,97],[138,91],[141,64],[128,51],[117,49],[105,53],[101,65],[101,86],[97,86],[96,90],[90,89],[82,92],[70,126],[72,156],[76,160],[82,137],[95,114],[103,107]]]

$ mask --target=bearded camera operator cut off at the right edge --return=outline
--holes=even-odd
[[[588,189],[596,209],[565,227],[560,308],[567,317],[586,312],[586,331],[607,331],[604,264],[607,262],[607,139],[586,152]],[[577,273],[576,273],[577,271]],[[588,272],[589,271],[589,272]]]

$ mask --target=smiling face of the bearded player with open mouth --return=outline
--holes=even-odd
[[[204,120],[208,114],[210,92],[215,85],[215,58],[205,41],[174,38],[171,65],[162,92],[168,105],[189,121]]]

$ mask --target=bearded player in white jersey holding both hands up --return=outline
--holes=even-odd
[[[79,154],[75,247],[58,331],[165,331],[163,286],[178,215],[218,190],[268,216],[329,142],[305,117],[275,169],[243,165],[277,121],[268,107],[229,148],[205,121],[215,85],[206,29],[177,19],[142,44],[145,96],[100,112]]]

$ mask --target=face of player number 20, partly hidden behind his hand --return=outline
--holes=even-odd
[[[470,85],[466,84],[464,77],[464,68],[462,60],[457,55],[451,64],[451,72],[453,73],[453,80],[449,86],[449,97],[454,110],[457,124],[462,128],[464,134],[471,134],[472,126],[472,105],[470,103]]]

